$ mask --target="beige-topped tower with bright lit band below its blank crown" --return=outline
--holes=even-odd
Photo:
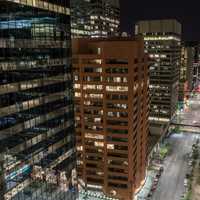
[[[174,116],[181,65],[181,24],[176,20],[139,21],[135,33],[144,37],[150,67],[150,121],[160,132]],[[156,130],[157,129],[157,130]],[[166,129],[167,130],[167,129]]]

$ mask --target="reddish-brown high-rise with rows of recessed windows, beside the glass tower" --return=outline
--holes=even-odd
[[[73,41],[78,176],[85,191],[132,200],[144,183],[149,71],[141,38]]]

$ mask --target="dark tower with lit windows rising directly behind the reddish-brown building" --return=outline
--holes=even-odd
[[[71,0],[72,37],[119,35],[119,0]]]

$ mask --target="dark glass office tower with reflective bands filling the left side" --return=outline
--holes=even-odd
[[[1,199],[76,198],[68,0],[0,1]]]

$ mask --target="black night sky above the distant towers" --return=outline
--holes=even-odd
[[[121,0],[121,31],[133,33],[143,19],[175,18],[183,25],[183,39],[200,41],[199,0]]]

